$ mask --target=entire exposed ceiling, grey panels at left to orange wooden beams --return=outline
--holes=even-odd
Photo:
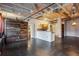
[[[79,10],[79,4],[75,4]],[[0,10],[15,13],[29,18],[44,18],[54,19],[57,17],[71,17],[73,4],[56,4],[56,3],[0,3]],[[51,12],[49,12],[51,11]],[[78,11],[79,12],[79,11]],[[77,14],[79,15],[79,14]]]

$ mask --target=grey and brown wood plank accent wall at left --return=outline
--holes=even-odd
[[[7,42],[28,41],[28,22],[6,20]]]

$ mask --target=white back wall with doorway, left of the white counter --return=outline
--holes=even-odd
[[[47,21],[42,21],[42,20],[38,20],[38,19],[31,19],[29,21],[29,24],[31,25],[30,28],[31,28],[31,37],[32,38],[36,38],[36,35],[37,35],[36,32],[37,32],[38,24],[44,23],[44,22],[48,23]]]

